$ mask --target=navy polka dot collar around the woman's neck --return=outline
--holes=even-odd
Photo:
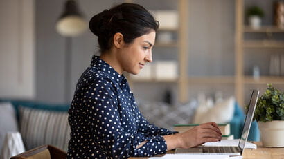
[[[91,67],[95,67],[102,73],[105,73],[105,75],[107,75],[107,77],[109,77],[109,79],[111,79],[114,83],[119,84],[123,79],[125,79],[123,75],[119,75],[119,73],[116,72],[112,66],[107,64],[107,62],[105,62],[103,59],[100,59],[99,56],[94,55],[91,58]]]

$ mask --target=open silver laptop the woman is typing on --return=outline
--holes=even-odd
[[[258,90],[253,90],[251,94],[251,100],[249,101],[249,110],[247,111],[247,116],[245,118],[244,126],[242,127],[242,136],[238,147],[193,147],[190,149],[176,149],[177,153],[193,153],[193,154],[204,154],[204,155],[229,155],[229,156],[241,156],[245,149],[245,142],[247,142],[247,137],[249,136],[249,129],[251,127],[251,122],[254,117],[254,110],[256,109],[256,103],[258,101]]]

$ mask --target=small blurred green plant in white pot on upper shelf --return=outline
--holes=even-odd
[[[261,26],[261,18],[264,17],[263,10],[258,6],[247,8],[247,18],[251,28],[258,29]]]

